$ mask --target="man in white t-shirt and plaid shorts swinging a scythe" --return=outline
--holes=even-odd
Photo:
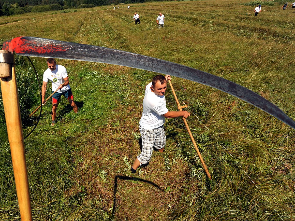
[[[143,111],[139,121],[139,129],[142,139],[142,151],[135,159],[131,167],[135,173],[139,166],[149,163],[153,154],[153,148],[163,153],[166,144],[166,135],[163,129],[165,118],[190,116],[186,110],[169,111],[166,108],[165,91],[170,75],[156,75],[151,83],[145,87],[145,97],[142,101]]]

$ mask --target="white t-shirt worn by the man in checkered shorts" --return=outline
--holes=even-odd
[[[151,86],[152,83],[149,83],[145,87],[145,97],[142,101],[143,110],[139,125],[144,129],[154,129],[163,126],[165,123],[165,116],[163,114],[168,112],[165,95],[156,95],[150,89]]]

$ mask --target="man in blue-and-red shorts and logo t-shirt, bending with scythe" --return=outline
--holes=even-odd
[[[58,106],[58,101],[61,98],[61,95],[65,96],[70,105],[72,106],[75,113],[78,112],[78,107],[74,102],[73,94],[71,91],[71,87],[69,85],[69,77],[68,72],[62,65],[57,65],[55,59],[48,58],[47,59],[48,68],[44,71],[43,74],[43,85],[42,85],[42,104],[45,104],[45,93],[47,88],[48,81],[52,83],[52,93],[57,90],[57,92],[52,95],[52,123],[51,126],[55,125],[55,117],[56,117],[56,109]],[[62,86],[63,85],[63,86]]]

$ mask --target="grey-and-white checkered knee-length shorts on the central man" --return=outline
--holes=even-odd
[[[163,126],[155,129],[143,129],[139,126],[142,139],[142,151],[137,156],[141,164],[146,164],[150,161],[153,154],[153,148],[162,149],[166,145],[166,135]]]

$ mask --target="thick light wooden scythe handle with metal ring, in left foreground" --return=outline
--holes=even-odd
[[[3,54],[7,54],[7,52],[8,51],[0,50],[0,57]],[[1,72],[11,73],[11,75],[8,77],[5,77],[5,75],[1,74],[1,91],[8,141],[10,144],[12,166],[14,171],[14,179],[17,189],[17,199],[19,202],[20,217],[22,221],[32,221],[26,156],[24,151],[24,137],[22,131],[22,119],[20,115],[19,97],[13,62],[13,60],[12,62],[8,63],[5,62],[5,60],[4,62],[3,60],[0,61]]]

